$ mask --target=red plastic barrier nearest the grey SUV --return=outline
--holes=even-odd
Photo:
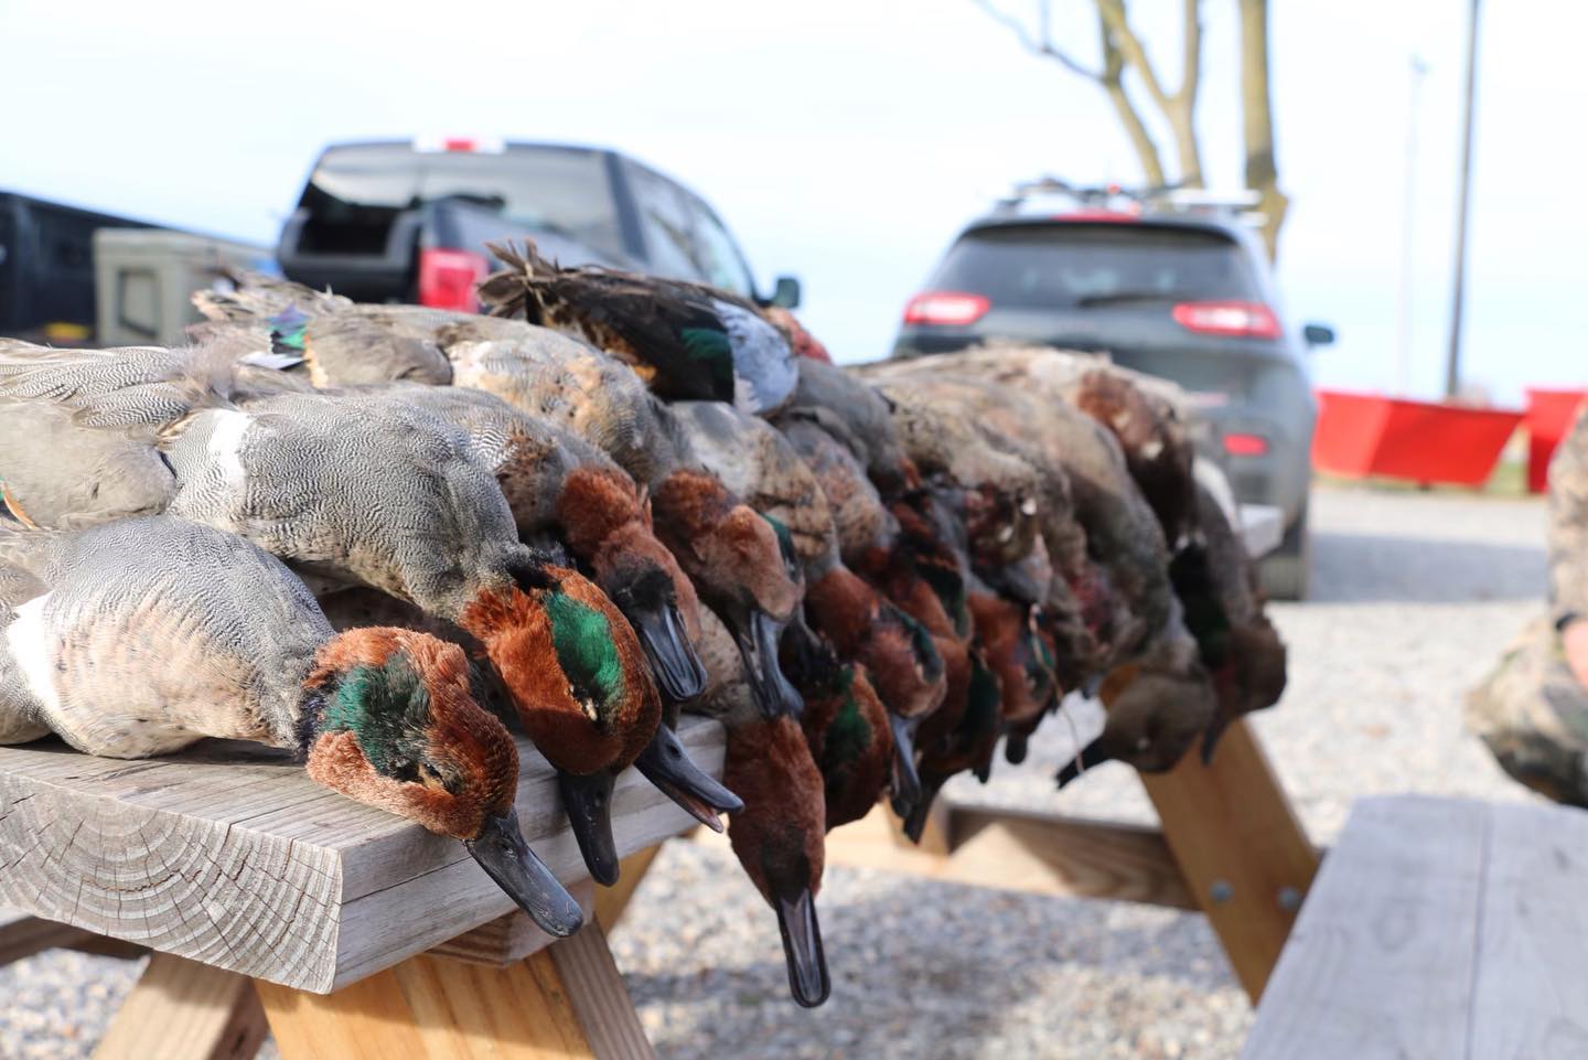
[[[1318,391],[1312,462],[1334,475],[1482,486],[1520,412]]]

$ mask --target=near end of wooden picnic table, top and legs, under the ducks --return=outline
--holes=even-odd
[[[680,739],[721,776],[719,725],[686,717]],[[551,766],[527,742],[519,760],[524,838],[594,912]],[[619,855],[643,861],[691,826],[635,771],[619,777]],[[0,747],[0,961],[154,952],[105,1060],[243,1060],[267,1019],[284,1060],[653,1055],[599,923],[553,941],[462,844],[270,749],[119,761]]]

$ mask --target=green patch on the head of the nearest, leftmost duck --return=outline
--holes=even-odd
[[[351,731],[375,769],[395,780],[418,780],[430,728],[430,691],[407,656],[356,666],[338,675],[319,731]]]

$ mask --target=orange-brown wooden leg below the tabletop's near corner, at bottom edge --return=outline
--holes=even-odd
[[[411,957],[335,993],[256,982],[283,1060],[654,1060],[600,925],[505,968]]]

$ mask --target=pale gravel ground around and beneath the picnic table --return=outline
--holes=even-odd
[[[1291,677],[1258,729],[1309,831],[1353,798],[1531,798],[1461,728],[1461,694],[1544,596],[1544,507],[1320,489],[1315,582],[1275,604]],[[1050,720],[1027,761],[961,799],[1151,822],[1105,766],[1050,777],[1096,715]],[[724,1058],[1234,1057],[1245,995],[1194,914],[1000,893],[834,868],[821,895],[832,1000],[788,1000],[772,912],[716,847],[669,844],[613,933],[659,1055]],[[87,1057],[137,963],[44,954],[0,969],[0,1057]]]

